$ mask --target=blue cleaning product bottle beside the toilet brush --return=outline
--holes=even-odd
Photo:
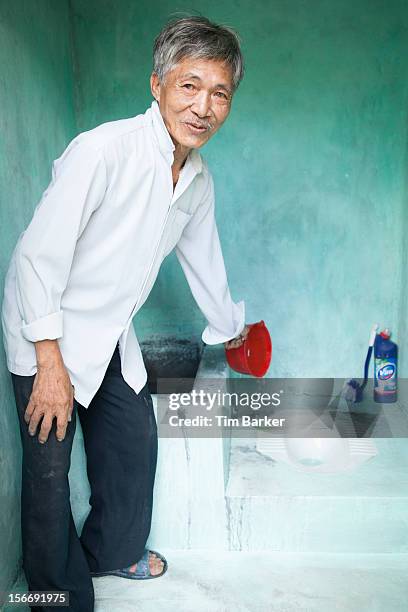
[[[374,401],[391,404],[397,401],[398,346],[384,329],[374,342]]]

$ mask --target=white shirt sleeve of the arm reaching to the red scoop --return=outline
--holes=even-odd
[[[228,287],[214,215],[211,175],[206,194],[177,243],[176,255],[193,297],[208,321],[203,342],[219,344],[238,336],[245,326],[245,304],[234,303]]]

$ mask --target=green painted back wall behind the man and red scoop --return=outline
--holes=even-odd
[[[375,321],[403,341],[406,2],[72,6],[80,129],[150,104],[152,42],[175,10],[240,32],[247,74],[203,154],[233,296],[273,335],[270,375],[358,374]],[[172,255],[136,330],[199,335],[203,325]]]

